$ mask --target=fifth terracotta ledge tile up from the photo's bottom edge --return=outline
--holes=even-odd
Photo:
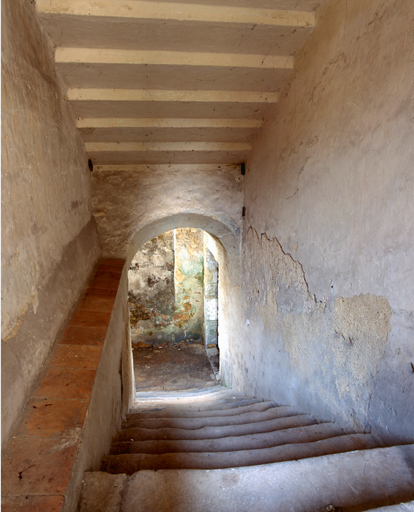
[[[96,370],[101,358],[102,346],[58,345],[50,366]]]

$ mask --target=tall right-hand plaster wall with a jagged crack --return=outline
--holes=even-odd
[[[227,382],[414,439],[414,5],[327,0],[247,165]]]

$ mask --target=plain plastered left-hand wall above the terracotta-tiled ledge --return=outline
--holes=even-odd
[[[2,446],[99,256],[84,144],[33,2],[2,2]]]

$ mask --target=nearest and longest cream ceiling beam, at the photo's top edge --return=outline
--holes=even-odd
[[[40,14],[152,20],[198,21],[285,27],[313,27],[315,14],[252,7],[151,2],[142,0],[36,0]]]

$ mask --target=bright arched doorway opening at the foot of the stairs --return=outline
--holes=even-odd
[[[135,388],[209,387],[219,380],[217,243],[198,228],[146,242],[128,270]]]

